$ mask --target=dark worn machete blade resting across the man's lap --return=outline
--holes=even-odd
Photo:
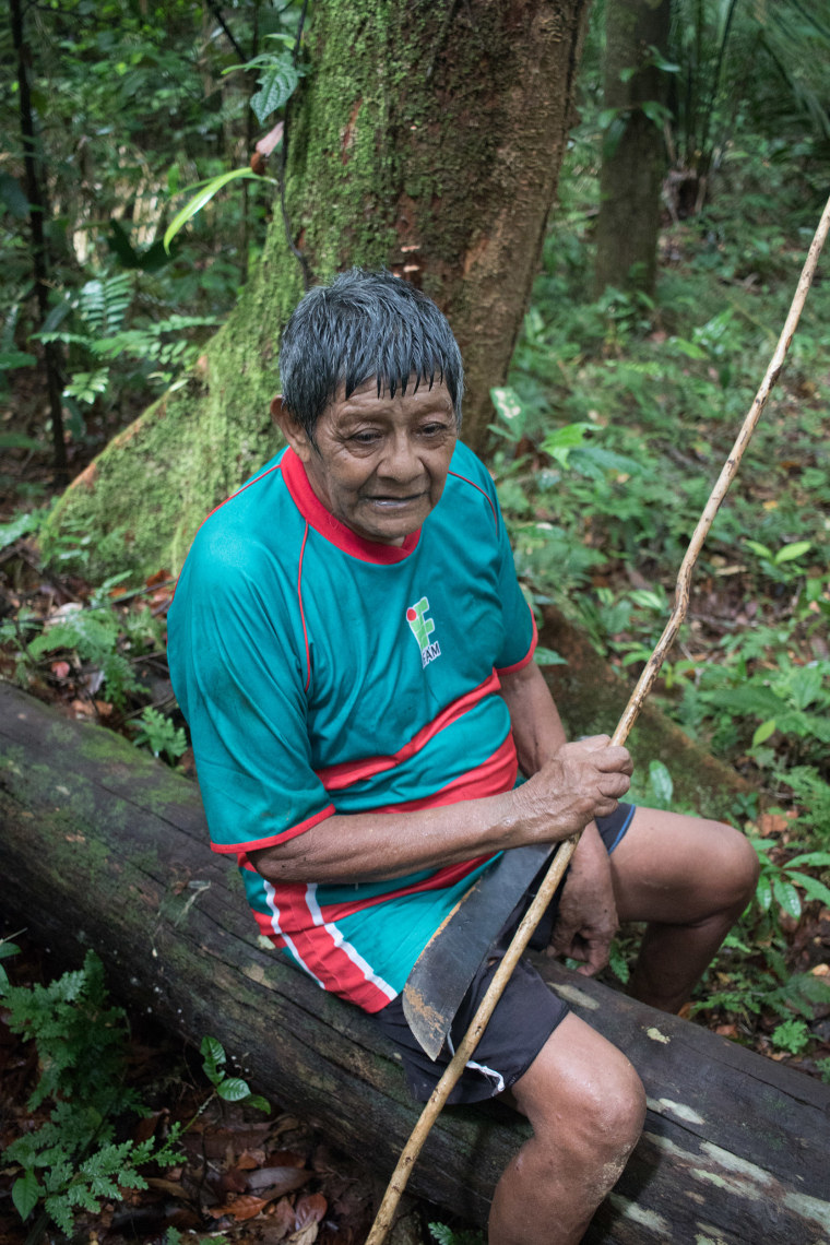
[[[555,844],[510,848],[455,904],[416,960],[403,987],[403,1015],[437,1059],[458,1006],[497,934]]]

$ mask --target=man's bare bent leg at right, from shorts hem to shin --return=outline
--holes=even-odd
[[[630,991],[679,1011],[754,893],[752,844],[719,822],[638,808],[611,874],[620,921],[648,921]]]

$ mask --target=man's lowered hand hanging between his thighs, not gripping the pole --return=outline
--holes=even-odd
[[[592,977],[609,962],[609,947],[617,926],[609,853],[591,823],[571,860],[550,949],[555,955],[581,960],[577,971]]]

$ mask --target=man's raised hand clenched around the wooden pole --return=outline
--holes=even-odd
[[[516,788],[525,804],[525,827],[534,840],[551,842],[582,830],[596,817],[613,813],[628,791],[633,763],[627,748],[607,735],[564,743],[541,769]]]

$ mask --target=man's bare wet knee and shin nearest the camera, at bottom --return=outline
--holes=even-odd
[[[640,1137],[640,1078],[625,1055],[569,1015],[511,1102],[534,1135],[497,1185],[489,1245],[575,1245]]]

